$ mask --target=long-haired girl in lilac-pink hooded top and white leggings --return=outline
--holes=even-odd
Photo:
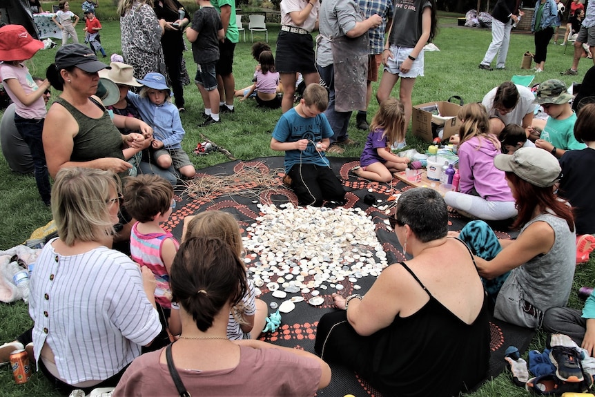
[[[504,171],[494,166],[500,153],[498,138],[489,133],[489,117],[482,104],[459,110],[460,192],[447,192],[445,202],[462,215],[481,220],[506,220],[516,216],[514,198]]]

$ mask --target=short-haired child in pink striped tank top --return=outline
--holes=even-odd
[[[170,268],[179,242],[160,226],[175,209],[173,187],[158,175],[130,177],[124,186],[124,201],[126,211],[137,220],[130,231],[130,256],[155,275],[155,302],[159,318],[164,330],[169,326],[173,335],[179,335],[182,332],[182,323],[175,310],[177,306],[171,301],[169,287]],[[159,338],[159,342],[161,339]]]

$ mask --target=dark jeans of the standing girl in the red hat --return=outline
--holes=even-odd
[[[45,119],[25,119],[19,115],[14,115],[14,125],[17,126],[19,134],[21,134],[31,151],[37,190],[41,200],[49,205],[52,197],[52,186],[50,185],[50,173],[48,173],[48,165],[46,164],[46,153],[43,152],[43,142],[41,141],[44,121]]]

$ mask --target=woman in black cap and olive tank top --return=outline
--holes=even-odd
[[[82,44],[69,44],[56,53],[55,64],[48,67],[46,77],[52,87],[61,90],[43,125],[43,148],[48,153],[48,171],[52,177],[61,168],[87,167],[113,171],[121,177],[132,166],[126,156],[142,151],[150,144],[153,129],[142,120],[115,115],[113,122],[99,97],[99,70],[109,68],[97,61],[92,50]],[[139,130],[141,133],[122,135],[119,128]],[[146,138],[149,139],[146,139]],[[125,153],[123,152],[126,152]],[[128,153],[132,152],[132,153]],[[130,219],[120,219],[127,225]],[[126,240],[130,228],[116,228],[118,236]]]

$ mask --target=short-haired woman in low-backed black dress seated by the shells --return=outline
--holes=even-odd
[[[447,238],[447,206],[432,189],[402,193],[389,220],[413,259],[384,269],[363,297],[333,294],[344,310],[322,316],[315,350],[386,396],[457,396],[485,378],[489,363],[487,300],[474,258]]]

